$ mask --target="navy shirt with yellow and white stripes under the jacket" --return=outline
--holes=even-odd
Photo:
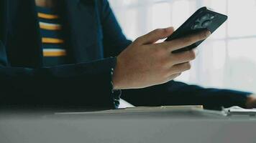
[[[42,38],[44,66],[66,63],[67,51],[63,39],[63,26],[56,9],[37,6],[37,16]]]

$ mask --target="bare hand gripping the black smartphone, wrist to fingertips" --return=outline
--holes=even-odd
[[[114,89],[138,89],[169,82],[183,71],[191,69],[189,61],[196,58],[194,51],[172,54],[172,51],[206,39],[210,31],[185,36],[173,41],[155,43],[173,34],[173,28],[156,29],[136,39],[117,56],[114,69]]]

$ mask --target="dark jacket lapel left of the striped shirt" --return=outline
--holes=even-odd
[[[12,66],[42,66],[42,44],[35,11],[35,0],[6,0],[9,40],[6,47]]]

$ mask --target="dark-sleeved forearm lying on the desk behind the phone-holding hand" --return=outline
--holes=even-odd
[[[122,98],[135,106],[204,105],[206,109],[221,109],[232,106],[247,108],[249,96],[249,92],[205,89],[171,81],[155,87],[124,91]]]

